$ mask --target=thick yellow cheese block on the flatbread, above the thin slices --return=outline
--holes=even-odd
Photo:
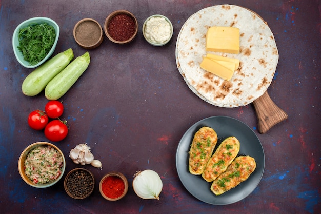
[[[239,52],[239,29],[235,27],[213,26],[206,33],[206,51]]]

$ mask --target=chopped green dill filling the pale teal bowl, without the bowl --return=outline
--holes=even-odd
[[[30,24],[19,29],[19,46],[24,60],[30,65],[42,61],[49,53],[56,38],[54,27],[44,24]]]

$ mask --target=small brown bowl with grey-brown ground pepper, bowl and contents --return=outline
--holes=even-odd
[[[94,49],[103,42],[102,26],[92,18],[84,18],[73,28],[76,43],[85,49]]]

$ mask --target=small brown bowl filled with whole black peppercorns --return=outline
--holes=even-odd
[[[94,186],[93,174],[84,168],[72,169],[64,181],[65,191],[73,199],[87,198],[93,192]]]

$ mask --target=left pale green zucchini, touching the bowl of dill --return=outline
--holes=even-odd
[[[35,96],[40,93],[53,77],[70,63],[73,57],[73,51],[69,48],[37,67],[22,83],[22,92],[27,96]]]

